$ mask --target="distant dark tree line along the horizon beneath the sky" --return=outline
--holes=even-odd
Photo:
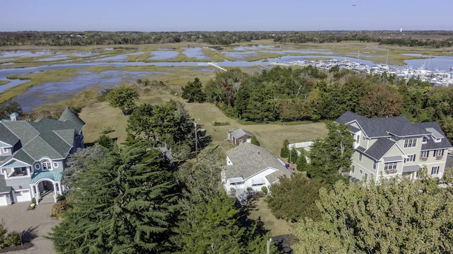
[[[428,35],[428,36],[427,36]],[[437,39],[434,39],[438,37]],[[452,47],[452,31],[219,31],[219,32],[1,32],[0,46],[143,45],[171,42],[204,42],[230,45],[270,39],[285,43],[342,41],[379,42],[410,47]]]

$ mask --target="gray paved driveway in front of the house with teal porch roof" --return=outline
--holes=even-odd
[[[29,205],[30,202],[24,202],[0,207],[0,220],[3,218],[8,232],[24,232],[23,237],[25,238],[33,234],[38,236],[32,241],[35,247],[22,250],[21,254],[55,253],[52,241],[44,238],[52,231],[52,227],[59,223],[57,219],[50,217],[53,203],[38,204],[35,209],[30,211],[28,210]]]

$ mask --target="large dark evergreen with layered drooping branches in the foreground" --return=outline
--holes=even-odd
[[[143,143],[86,161],[72,209],[50,238],[59,253],[169,253],[178,205],[168,161]]]

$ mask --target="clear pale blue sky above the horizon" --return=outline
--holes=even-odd
[[[0,0],[0,31],[400,28],[453,30],[453,0]]]

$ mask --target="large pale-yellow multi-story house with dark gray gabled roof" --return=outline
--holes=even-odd
[[[396,175],[417,178],[420,168],[442,178],[447,154],[452,150],[437,122],[411,123],[406,117],[367,118],[345,112],[336,120],[354,136],[349,177],[353,182]]]

